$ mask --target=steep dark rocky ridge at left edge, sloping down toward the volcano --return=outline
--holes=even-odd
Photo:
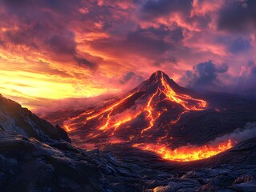
[[[17,102],[2,97],[0,94],[0,127],[9,134],[21,134],[25,137],[37,138],[39,141],[49,139],[70,142],[67,132],[59,126],[38,118],[30,110],[22,108]]]

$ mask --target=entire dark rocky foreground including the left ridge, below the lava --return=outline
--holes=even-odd
[[[200,162],[125,146],[81,150],[67,134],[0,97],[1,191],[255,191],[256,138]]]

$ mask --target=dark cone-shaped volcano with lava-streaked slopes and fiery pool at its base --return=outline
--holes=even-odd
[[[156,71],[128,94],[99,108],[73,111],[66,118],[52,114],[46,118],[59,122],[81,148],[124,144],[171,161],[189,162],[235,146],[234,138],[223,136],[254,118],[253,110],[247,112],[254,115],[239,116],[239,110],[234,112],[234,104],[229,106],[226,99],[237,102],[230,95],[185,89],[164,72]],[[244,107],[241,102],[235,105]],[[233,118],[237,118],[237,126]],[[223,139],[216,141],[221,136]]]

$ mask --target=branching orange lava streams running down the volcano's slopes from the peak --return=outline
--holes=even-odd
[[[107,106],[105,108],[102,108],[100,110],[89,110],[85,111],[83,114],[79,114],[75,118],[69,118],[66,122],[64,122],[65,129],[70,132],[71,130],[76,129],[76,120],[79,118],[85,118],[87,123],[88,121],[91,121],[92,119],[100,120],[103,118],[104,124],[98,127],[98,130],[106,131],[113,129],[113,132],[117,130],[118,127],[123,125],[126,122],[130,122],[133,119],[135,119],[137,116],[139,116],[141,113],[146,112],[148,115],[146,118],[148,118],[148,126],[145,127],[143,130],[141,130],[140,134],[144,134],[144,132],[150,130],[154,126],[154,122],[156,122],[157,118],[161,116],[161,114],[168,109],[163,109],[163,111],[158,111],[157,113],[154,113],[154,106],[156,106],[156,103],[162,102],[164,100],[169,100],[171,102],[176,102],[183,106],[185,109],[183,112],[181,112],[180,116],[170,122],[171,125],[178,122],[181,118],[181,115],[188,112],[189,110],[204,110],[207,106],[207,103],[202,99],[192,98],[189,95],[186,94],[178,94],[175,92],[168,84],[167,80],[161,74],[161,86],[156,90],[154,94],[150,98],[148,98],[148,102],[146,106],[144,106],[144,110],[139,111],[131,111],[130,114],[126,113],[123,116],[120,115],[118,118],[115,117],[115,115],[112,115],[112,111],[120,106],[122,103],[127,101],[128,98],[131,98],[133,95],[137,94],[137,92],[133,92],[131,94],[128,94],[123,99],[120,99],[118,102],[114,102],[112,105]],[[155,82],[157,83],[157,82]],[[161,94],[165,94],[166,98],[159,100],[159,96]],[[153,99],[158,97],[158,102],[154,103]],[[106,116],[107,115],[107,116]],[[112,135],[115,133],[112,133]]]

